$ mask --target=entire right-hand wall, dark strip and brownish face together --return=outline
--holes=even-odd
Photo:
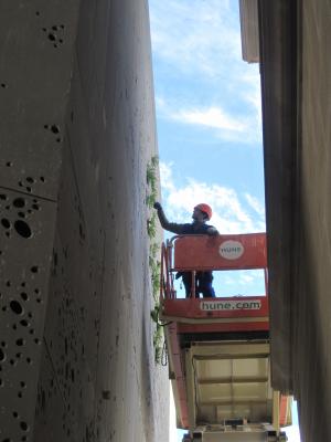
[[[266,24],[275,10],[260,4]],[[298,399],[301,440],[330,441],[331,3],[273,4],[284,13],[261,38],[273,375]]]

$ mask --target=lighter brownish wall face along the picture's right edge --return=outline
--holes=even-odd
[[[293,306],[295,393],[302,441],[331,440],[331,4],[301,6],[301,149],[298,293]]]

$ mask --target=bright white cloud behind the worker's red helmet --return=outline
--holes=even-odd
[[[253,217],[244,206],[245,198],[241,198],[234,189],[199,182],[192,178],[186,178],[186,182],[178,187],[171,165],[161,162],[160,166],[164,209],[171,221],[189,222],[194,206],[206,202],[213,208],[212,224],[221,233],[265,231],[263,213],[255,211]]]

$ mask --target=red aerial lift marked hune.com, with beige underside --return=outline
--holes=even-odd
[[[265,272],[263,296],[196,297],[196,272],[249,269]],[[177,272],[191,273],[190,298],[177,297]],[[183,441],[287,440],[280,428],[290,424],[291,399],[271,387],[267,278],[265,233],[162,244],[160,319]]]

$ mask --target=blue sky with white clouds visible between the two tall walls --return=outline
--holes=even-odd
[[[168,218],[189,222],[192,208],[206,202],[221,233],[265,231],[259,66],[242,60],[238,1],[149,4]],[[263,294],[256,274],[237,280]],[[231,284],[223,277],[224,287]]]

